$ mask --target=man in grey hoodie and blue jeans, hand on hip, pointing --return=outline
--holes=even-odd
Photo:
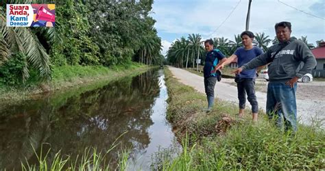
[[[291,23],[283,21],[276,23],[276,38],[279,43],[254,58],[254,60],[234,70],[239,74],[269,64],[269,84],[267,86],[266,112],[270,119],[274,118],[278,127],[282,127],[282,117],[285,121],[285,131],[297,131],[296,90],[297,81],[316,66],[316,60],[304,42],[291,35]],[[304,65],[300,68],[300,63]]]

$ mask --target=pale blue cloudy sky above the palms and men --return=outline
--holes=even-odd
[[[234,40],[234,34],[245,30],[247,10],[248,0],[155,0],[151,16],[156,20],[165,55],[171,42],[189,34],[200,34],[204,40]],[[252,1],[250,31],[254,34],[264,32],[273,39],[274,25],[280,21],[291,22],[291,36],[307,36],[308,42],[315,45],[316,40],[325,40],[325,0]]]

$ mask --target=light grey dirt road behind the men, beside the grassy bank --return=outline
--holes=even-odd
[[[187,86],[195,88],[198,92],[204,93],[203,77],[190,73],[189,71],[182,70],[180,68],[174,68],[169,66],[169,70],[173,73],[174,77],[179,79],[181,83]],[[237,88],[232,86],[229,81],[230,79],[221,80],[215,85],[215,96],[224,101],[230,101],[234,104],[238,104]],[[227,83],[228,82],[228,83]],[[298,85],[299,90],[299,85]],[[258,107],[265,111],[266,109],[266,93],[256,92],[258,101]],[[311,124],[313,120],[322,120],[324,127],[325,120],[325,99],[312,98],[310,96],[298,96],[297,99],[297,115],[298,120],[303,124]],[[249,103],[247,104],[248,106]]]

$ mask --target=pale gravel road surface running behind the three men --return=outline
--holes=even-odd
[[[169,70],[181,83],[195,88],[198,92],[204,93],[203,77],[190,73],[189,71],[169,66]],[[224,101],[238,104],[237,88],[233,79],[222,79],[215,85],[215,96]],[[267,82],[263,79],[256,80],[258,91],[256,97],[258,107],[266,109],[266,87]],[[263,86],[264,85],[264,86]],[[311,124],[313,120],[321,120],[324,127],[325,120],[325,82],[313,81],[311,83],[298,83],[297,89],[297,110],[298,120],[303,124]],[[249,107],[249,103],[247,104]]]

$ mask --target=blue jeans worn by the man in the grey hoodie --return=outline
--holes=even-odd
[[[279,128],[285,122],[285,131],[297,131],[297,83],[293,88],[285,83],[269,83],[267,86],[266,113],[269,119],[275,119]]]

